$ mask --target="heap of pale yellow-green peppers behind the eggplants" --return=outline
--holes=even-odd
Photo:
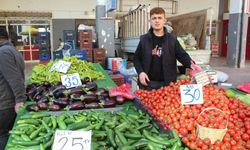
[[[71,62],[71,66],[67,74],[79,73],[80,78],[89,77],[91,79],[105,79],[102,72],[96,71],[92,63],[87,61],[78,60],[76,57],[64,57],[64,61]],[[61,75],[63,73],[57,71],[50,71],[53,64],[56,61],[50,61],[47,65],[38,64],[32,69],[31,75],[29,77],[30,83],[43,83],[45,81],[50,83],[56,83],[61,80]]]

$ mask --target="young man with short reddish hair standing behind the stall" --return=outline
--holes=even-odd
[[[152,90],[175,82],[177,79],[177,61],[190,68],[192,59],[183,50],[176,37],[164,27],[166,16],[164,9],[153,8],[150,11],[151,28],[140,37],[134,55],[134,66],[139,75],[140,89]]]

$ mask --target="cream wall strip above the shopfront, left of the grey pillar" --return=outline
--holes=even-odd
[[[52,12],[52,18],[95,18],[96,0],[0,0],[0,11]]]

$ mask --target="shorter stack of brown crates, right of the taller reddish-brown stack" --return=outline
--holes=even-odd
[[[104,48],[94,48],[93,49],[93,62],[99,63],[103,68],[106,68],[105,65],[106,50]]]

